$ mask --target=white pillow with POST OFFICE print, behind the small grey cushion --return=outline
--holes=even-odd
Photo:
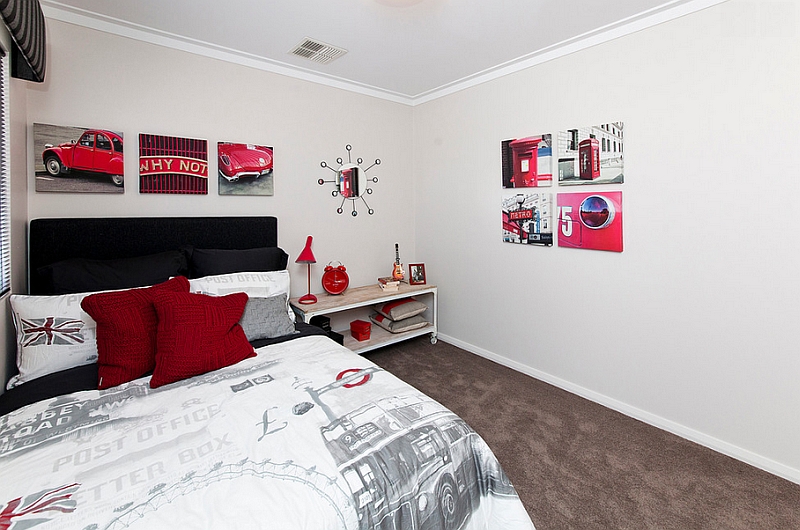
[[[193,293],[224,296],[231,293],[247,293],[250,298],[270,298],[286,295],[286,313],[294,322],[294,311],[289,305],[289,271],[233,272],[204,276],[189,280],[189,291]]]

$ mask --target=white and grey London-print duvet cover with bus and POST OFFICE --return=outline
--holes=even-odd
[[[326,337],[0,417],[0,530],[532,529],[455,414]]]

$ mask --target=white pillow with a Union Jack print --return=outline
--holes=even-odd
[[[97,362],[97,323],[81,309],[81,300],[90,294],[10,296],[19,374],[8,382],[8,390],[43,375]]]

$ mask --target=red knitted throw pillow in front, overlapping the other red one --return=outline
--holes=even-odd
[[[196,293],[160,293],[156,368],[150,387],[218,370],[253,357],[239,319],[246,293],[209,296]]]

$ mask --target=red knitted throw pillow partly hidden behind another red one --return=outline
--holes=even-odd
[[[97,322],[98,388],[121,385],[153,371],[158,327],[153,297],[162,292],[189,292],[189,280],[176,276],[152,287],[83,299],[81,307]]]

